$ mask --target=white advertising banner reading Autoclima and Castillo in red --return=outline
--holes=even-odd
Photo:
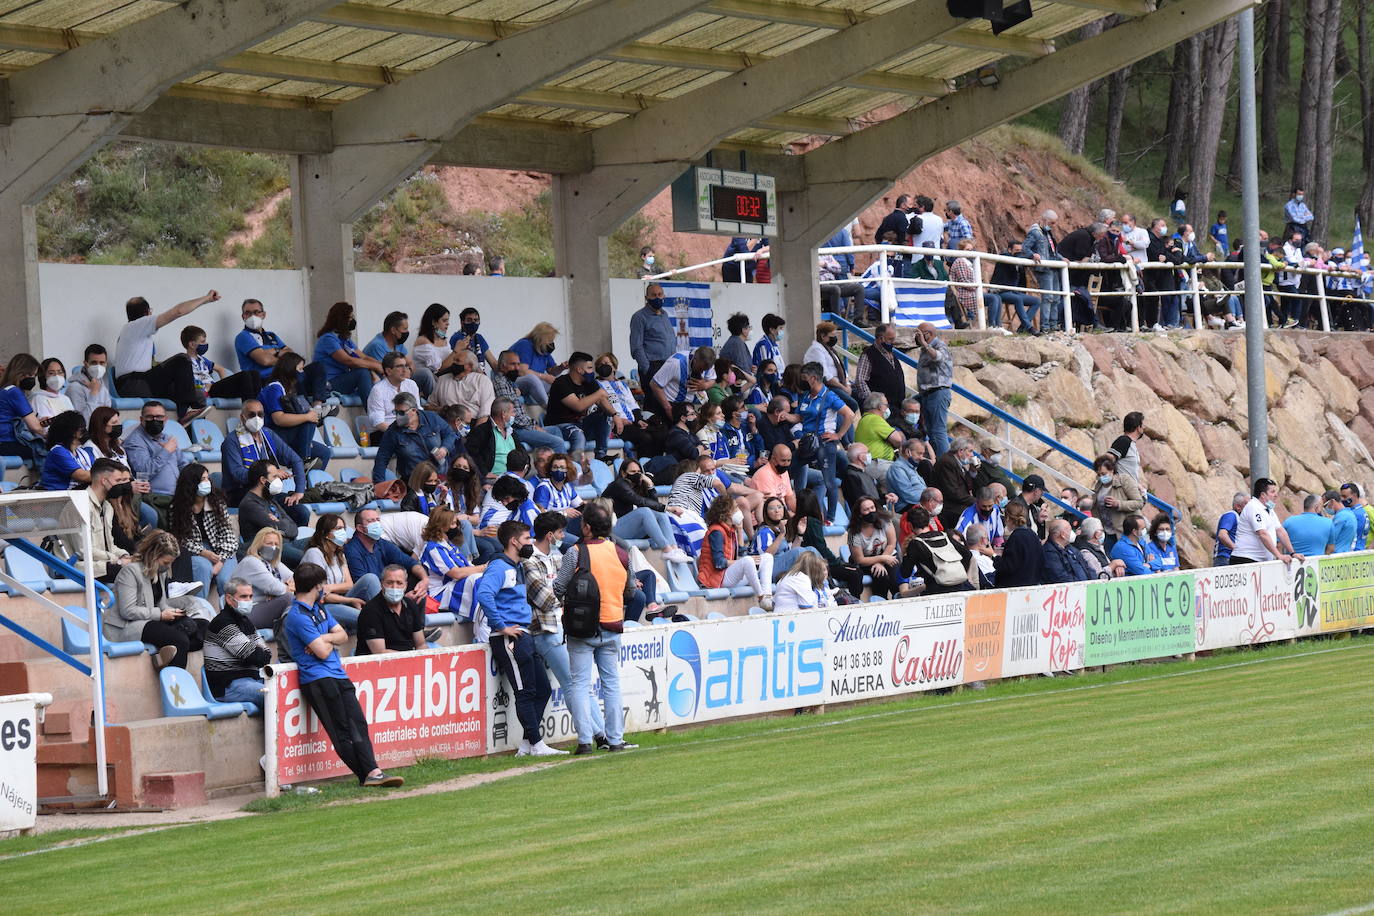
[[[965,596],[851,604],[826,621],[834,702],[962,684]]]

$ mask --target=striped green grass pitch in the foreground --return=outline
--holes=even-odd
[[[653,736],[467,791],[10,860],[0,894],[14,913],[1327,913],[1374,901],[1371,650]]]

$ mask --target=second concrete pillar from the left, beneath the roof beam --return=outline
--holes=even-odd
[[[337,216],[333,158],[291,158],[291,235],[295,266],[305,279],[306,325],[319,328],[330,306],[357,305],[353,284],[353,224]]]

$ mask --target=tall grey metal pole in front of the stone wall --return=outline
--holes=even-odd
[[[1250,481],[1270,475],[1270,412],[1264,393],[1264,287],[1260,286],[1260,166],[1254,117],[1254,8],[1241,12],[1241,205],[1245,235],[1245,389]]]

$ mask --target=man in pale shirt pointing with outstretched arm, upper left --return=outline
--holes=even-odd
[[[114,382],[122,397],[159,397],[176,402],[177,417],[190,422],[205,409],[205,400],[195,389],[195,376],[187,360],[166,360],[153,364],[153,335],[184,319],[206,302],[218,302],[220,294],[210,290],[205,295],[179,302],[162,314],[154,316],[153,306],[142,295],[129,299],[125,314],[129,323],[120,331],[114,345]]]

